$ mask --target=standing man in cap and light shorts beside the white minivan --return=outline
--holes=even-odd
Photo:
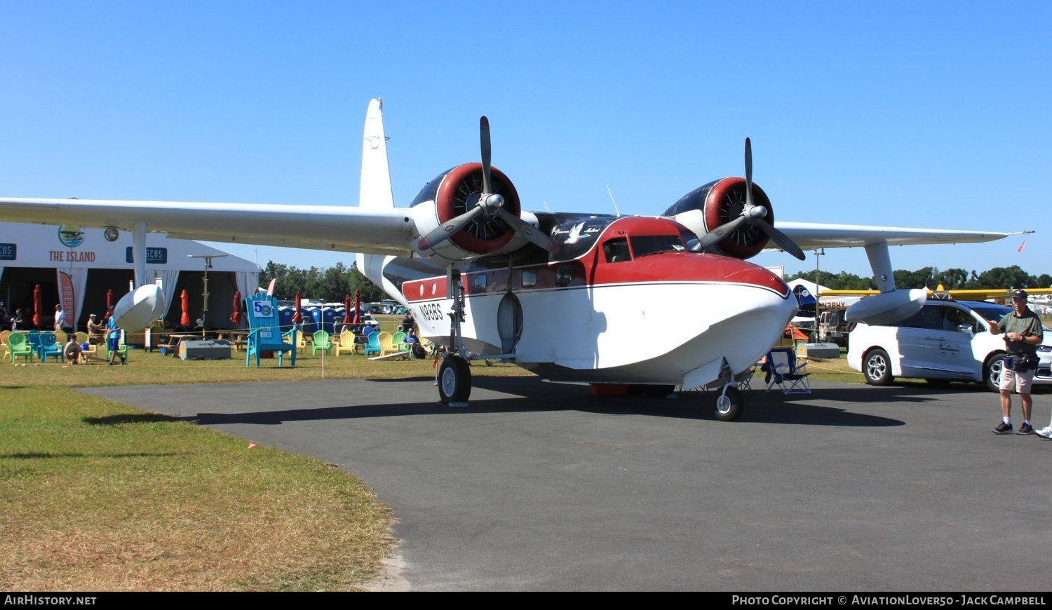
[[[1016,434],[1033,434],[1030,425],[1030,387],[1033,385],[1034,371],[1037,369],[1037,344],[1045,337],[1041,320],[1027,307],[1027,291],[1012,292],[1012,306],[1015,311],[1006,314],[999,322],[990,321],[992,334],[1005,333],[1005,366],[1000,369],[1000,410],[1002,423],[993,429],[994,434],[1012,432],[1012,388],[1019,392],[1023,403],[1023,424]]]

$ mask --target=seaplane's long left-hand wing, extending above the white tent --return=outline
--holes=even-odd
[[[179,239],[394,256],[418,237],[392,207],[2,198],[0,218],[124,230],[145,222]]]

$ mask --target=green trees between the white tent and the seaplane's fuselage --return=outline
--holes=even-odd
[[[387,296],[376,284],[366,279],[358,267],[347,267],[337,263],[333,267],[300,269],[270,261],[260,269],[260,286],[274,284],[274,296],[282,301],[296,299],[296,293],[304,299],[316,299],[326,303],[342,303],[344,297],[355,298],[355,290],[361,290],[362,303],[386,299]]]

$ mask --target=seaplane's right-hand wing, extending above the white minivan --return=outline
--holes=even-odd
[[[919,244],[958,244],[992,242],[1015,233],[920,229],[909,227],[824,224],[809,222],[775,222],[774,226],[789,236],[802,249],[863,247],[886,243],[889,246]],[[768,247],[777,250],[777,247]]]

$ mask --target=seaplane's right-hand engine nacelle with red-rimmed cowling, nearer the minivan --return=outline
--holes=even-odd
[[[774,224],[771,200],[755,183],[752,184],[752,203],[767,208],[765,220]],[[700,186],[683,196],[662,216],[676,217],[676,221],[702,237],[742,215],[745,206],[745,179],[724,178]],[[695,214],[688,214],[696,210]],[[754,224],[743,223],[726,238],[716,242],[720,253],[735,259],[749,259],[767,246],[768,237]]]

